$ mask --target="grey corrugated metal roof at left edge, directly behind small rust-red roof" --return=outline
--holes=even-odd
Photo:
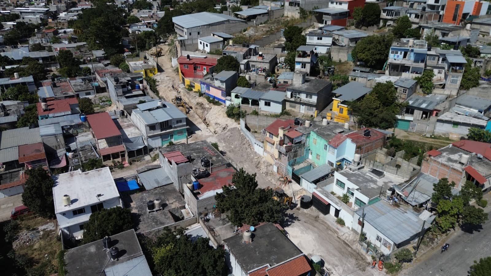
[[[41,142],[39,128],[29,127],[0,132],[0,149]]]

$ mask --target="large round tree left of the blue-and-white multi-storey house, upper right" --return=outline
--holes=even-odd
[[[355,61],[365,63],[365,66],[382,69],[387,60],[387,53],[392,45],[392,35],[370,35],[356,43],[351,53]]]

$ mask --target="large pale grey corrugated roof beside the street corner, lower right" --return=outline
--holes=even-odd
[[[423,220],[409,210],[397,208],[388,202],[381,200],[356,211],[365,221],[380,231],[396,245],[407,240],[412,240],[420,233]],[[431,221],[430,221],[431,222]],[[425,224],[425,229],[430,228],[431,223]]]

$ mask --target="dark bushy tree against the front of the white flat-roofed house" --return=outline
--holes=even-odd
[[[93,212],[83,224],[83,244],[100,240],[133,228],[131,210],[119,206]]]

